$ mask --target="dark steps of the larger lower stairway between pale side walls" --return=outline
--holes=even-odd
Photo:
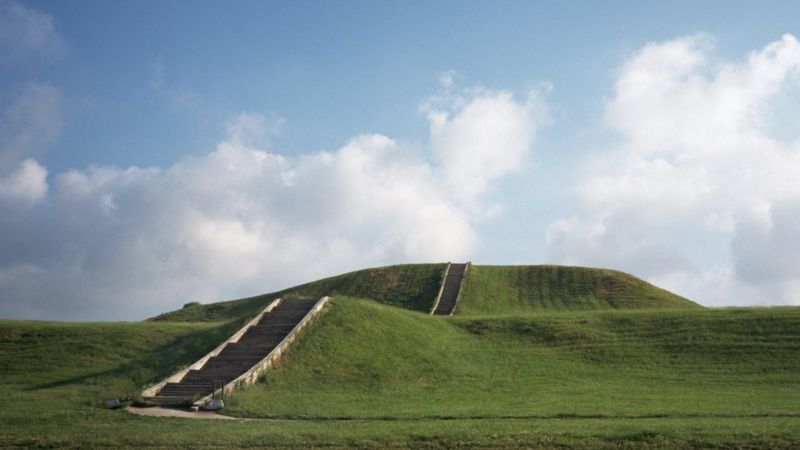
[[[152,397],[163,405],[185,404],[211,395],[215,388],[236,380],[262,361],[317,304],[317,299],[284,300],[264,313],[236,342],[230,342],[199,369],[189,370],[178,382],[166,383]]]

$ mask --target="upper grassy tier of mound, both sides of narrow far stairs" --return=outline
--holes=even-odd
[[[255,297],[211,304],[189,303],[149,320],[218,322],[255,315],[281,296],[369,298],[428,312],[444,264],[404,264],[364,269]],[[472,266],[458,314],[507,314],[537,310],[679,309],[699,305],[614,270],[563,266]]]

